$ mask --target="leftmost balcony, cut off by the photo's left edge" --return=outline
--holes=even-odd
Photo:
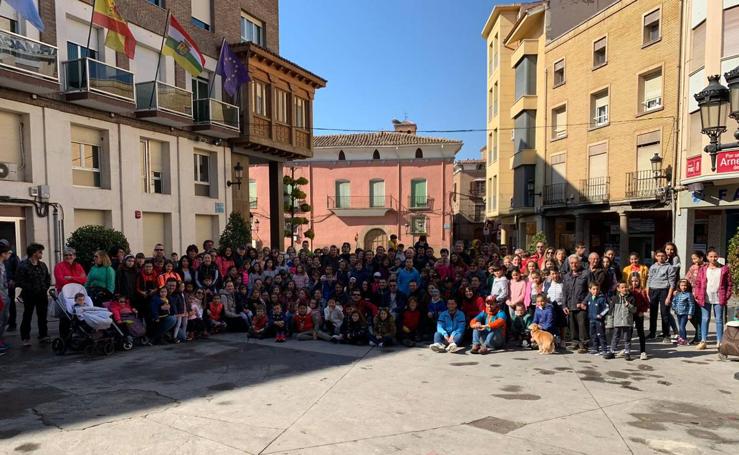
[[[0,30],[0,86],[37,95],[59,91],[57,48]]]

